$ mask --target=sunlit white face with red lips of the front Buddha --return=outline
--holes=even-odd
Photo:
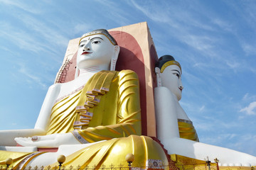
[[[110,64],[113,55],[114,45],[105,35],[96,34],[82,38],[78,48],[78,69]]]

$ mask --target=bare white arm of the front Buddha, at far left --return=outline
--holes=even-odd
[[[55,99],[58,96],[60,86],[53,84],[48,89],[46,98],[43,101],[36,126],[34,129],[23,129],[23,130],[1,130],[0,131],[0,145],[1,146],[16,146],[15,137],[32,137],[34,135],[46,135],[46,128],[48,125],[48,119],[50,117],[51,108]]]

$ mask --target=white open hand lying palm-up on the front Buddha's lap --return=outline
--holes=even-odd
[[[14,140],[23,147],[59,147],[60,145],[80,144],[71,132],[45,136],[16,137]]]

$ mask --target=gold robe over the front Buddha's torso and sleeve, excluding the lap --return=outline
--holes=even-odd
[[[92,106],[84,105],[88,101]],[[55,103],[47,135],[72,132],[74,123],[82,121],[87,125],[80,126],[78,133],[88,142],[141,135],[137,74],[131,70],[96,73],[83,89]]]

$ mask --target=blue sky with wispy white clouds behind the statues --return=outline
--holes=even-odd
[[[201,142],[256,156],[256,1],[0,0],[0,130],[33,128],[68,41],[146,21]]]

